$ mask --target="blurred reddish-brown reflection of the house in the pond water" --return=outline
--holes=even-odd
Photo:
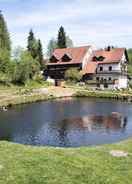
[[[106,130],[123,130],[127,125],[127,118],[123,118],[119,113],[112,113],[108,116],[89,115],[81,118],[65,119],[63,122],[65,122],[65,125],[67,124],[67,128],[82,128],[91,132],[94,129],[102,128]]]

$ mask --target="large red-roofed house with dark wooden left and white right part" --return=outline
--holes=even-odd
[[[84,81],[105,88],[126,88],[128,56],[125,48],[96,50],[93,46],[55,49],[46,73],[52,79],[64,79],[69,68],[78,69]]]

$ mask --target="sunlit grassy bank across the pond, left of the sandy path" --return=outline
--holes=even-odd
[[[48,82],[31,80],[27,81],[25,86],[0,85],[0,107],[53,99],[53,97],[45,94],[33,93],[34,89],[47,88],[49,86]]]

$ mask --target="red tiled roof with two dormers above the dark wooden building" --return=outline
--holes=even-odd
[[[58,62],[56,63],[50,63],[48,62],[48,65],[58,65],[58,64],[77,64],[77,63],[82,63],[82,60],[87,53],[88,49],[91,46],[84,46],[84,47],[75,47],[75,48],[65,48],[65,49],[55,49],[53,52],[53,55],[59,59]],[[72,59],[68,62],[65,62],[62,60],[62,57],[67,54],[69,55]]]

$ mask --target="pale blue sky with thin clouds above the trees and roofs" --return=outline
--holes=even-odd
[[[32,28],[43,42],[63,25],[75,46],[132,47],[132,0],[0,0],[13,47],[26,46]]]

